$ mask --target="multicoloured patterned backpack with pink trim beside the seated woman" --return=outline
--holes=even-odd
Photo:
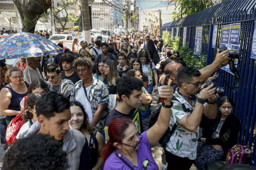
[[[251,148],[236,144],[228,150],[226,164],[247,164],[251,156]]]

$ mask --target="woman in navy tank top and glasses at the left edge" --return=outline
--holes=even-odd
[[[6,115],[7,125],[20,113],[20,101],[28,95],[29,83],[23,81],[23,75],[18,67],[12,67],[5,73],[4,86],[0,92],[0,114]]]

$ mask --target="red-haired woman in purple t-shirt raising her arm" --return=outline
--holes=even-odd
[[[173,89],[164,85],[159,96],[164,99],[156,123],[139,134],[131,119],[115,118],[108,126],[109,140],[101,154],[105,161],[103,169],[159,169],[151,148],[160,140],[169,126]]]

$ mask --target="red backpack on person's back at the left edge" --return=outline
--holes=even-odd
[[[26,106],[26,101],[27,101],[28,96],[25,96],[25,101],[24,101],[24,108]],[[20,128],[23,126],[25,123],[22,119],[22,112],[20,112],[12,121],[9,123],[6,129],[6,143],[8,145],[12,144],[16,140],[16,136],[18,135]]]

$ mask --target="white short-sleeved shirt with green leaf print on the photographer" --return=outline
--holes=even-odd
[[[179,88],[176,89],[174,96],[180,101],[172,100],[172,115],[169,127],[172,129],[174,123],[178,125],[180,119],[184,116],[189,116],[191,112],[185,112],[182,108],[181,103],[185,105],[186,108],[194,110],[196,105],[196,100],[191,100],[193,107],[185,100],[179,93]],[[204,103],[204,106],[206,103]],[[181,158],[188,158],[191,160],[196,159],[196,147],[197,140],[199,137],[199,126],[196,129],[196,133],[190,132],[180,125],[174,130],[173,135],[166,144],[166,150],[172,154],[179,156]]]

